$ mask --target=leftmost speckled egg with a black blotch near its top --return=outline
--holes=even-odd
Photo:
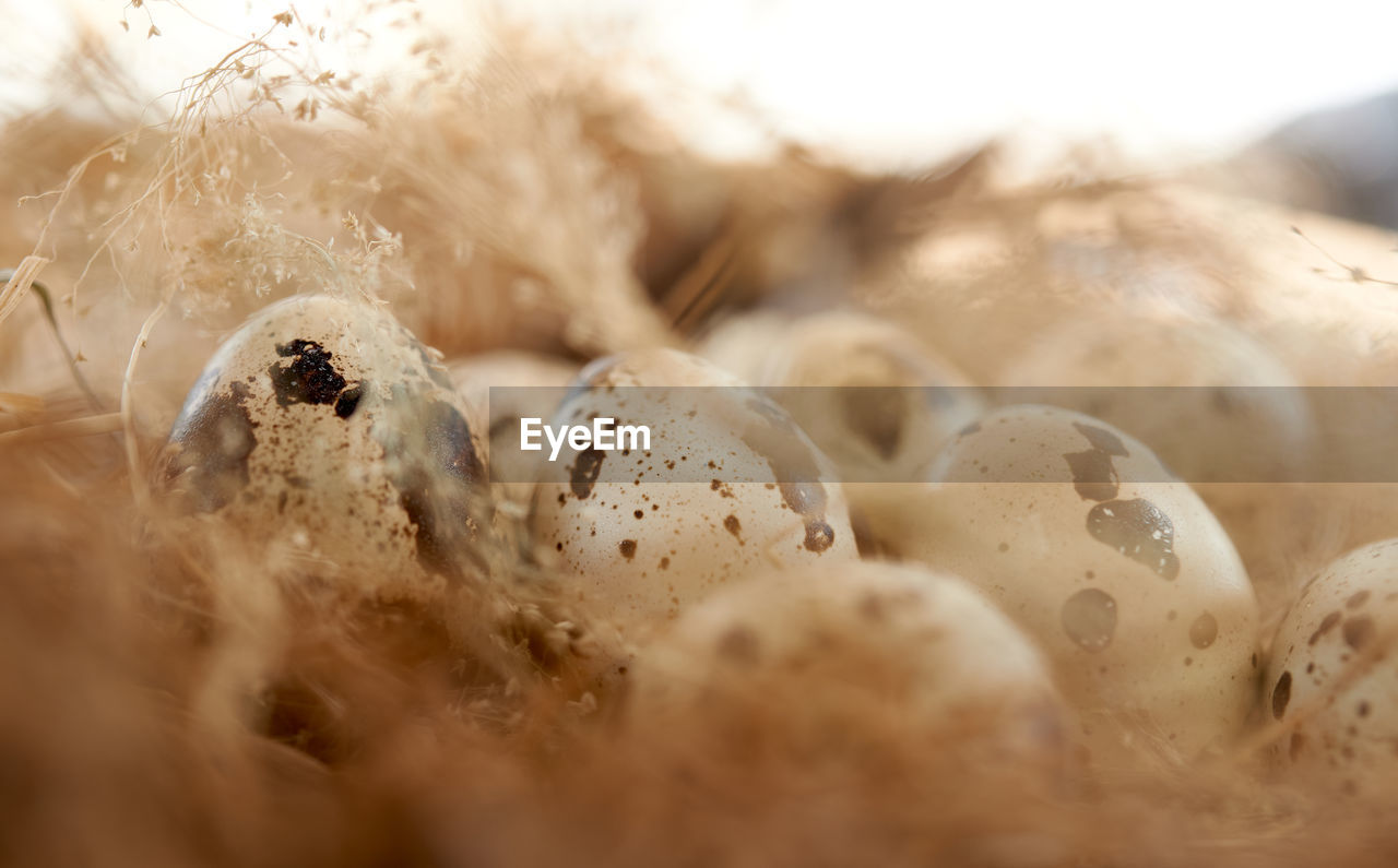
[[[277,302],[224,341],[162,467],[187,510],[380,597],[461,577],[487,520],[481,444],[446,369],[390,314],[344,298]]]

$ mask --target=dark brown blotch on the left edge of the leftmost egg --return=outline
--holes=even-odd
[[[217,379],[212,370],[201,382]],[[247,384],[238,380],[215,394],[196,386],[171,431],[175,449],[165,468],[166,484],[182,478],[199,512],[222,509],[247,486],[247,457],[257,447],[257,422],[245,407],[247,396]]]

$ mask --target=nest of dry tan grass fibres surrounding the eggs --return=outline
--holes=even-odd
[[[0,232],[0,860],[1392,862],[1387,797],[1279,776],[1281,730],[1088,776],[965,753],[886,709],[811,728],[784,713],[809,682],[626,727],[604,630],[549,576],[327,607],[172,533],[150,491],[212,340],[296,292],[383,302],[447,358],[582,361],[685,347],[759,303],[847,305],[980,383],[1044,323],[1144,306],[1234,323],[1306,384],[1391,384],[1381,233],[1102,172],[1008,186],[993,147],[921,175],[781,143],[723,162],[605,64],[503,22],[484,53],[424,38],[391,85],[319,66],[326,22],[267,24],[159,123],[88,39],[62,108],[0,129],[0,187],[22,200]],[[1392,534],[1383,499],[1274,486],[1220,510],[1271,622],[1320,565]]]

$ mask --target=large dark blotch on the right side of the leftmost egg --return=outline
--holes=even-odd
[[[418,562],[449,577],[463,576],[463,560],[480,562],[478,527],[488,523],[485,467],[471,429],[456,407],[394,386],[373,436],[383,446],[389,481],[414,526]]]

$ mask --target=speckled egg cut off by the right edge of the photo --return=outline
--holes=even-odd
[[[1348,791],[1398,772],[1398,540],[1339,558],[1310,580],[1272,642],[1262,709],[1295,724],[1285,753],[1299,772]],[[1391,784],[1388,784],[1391,787]]]

